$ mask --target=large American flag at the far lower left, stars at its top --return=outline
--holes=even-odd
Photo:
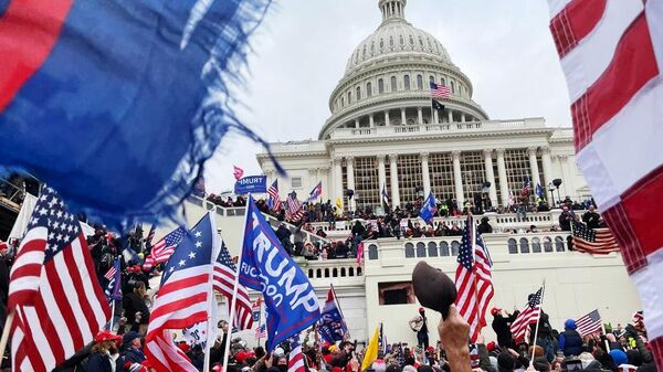
[[[53,189],[34,206],[10,278],[14,371],[52,371],[110,317],[78,220]]]

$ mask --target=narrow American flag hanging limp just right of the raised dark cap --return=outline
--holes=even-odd
[[[481,235],[476,234],[472,216],[463,232],[455,274],[459,313],[470,323],[472,342],[486,326],[486,309],[493,298],[493,262]]]

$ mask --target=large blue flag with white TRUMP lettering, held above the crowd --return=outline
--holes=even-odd
[[[272,226],[249,198],[240,262],[240,284],[263,294],[267,312],[267,349],[320,318],[313,285],[285,252]]]

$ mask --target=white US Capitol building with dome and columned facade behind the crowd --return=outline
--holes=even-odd
[[[394,205],[413,201],[421,187],[424,193],[432,190],[439,200],[455,198],[461,204],[490,182],[493,205],[506,205],[509,193],[518,193],[525,177],[544,188],[561,179],[562,198],[590,195],[575,166],[571,130],[549,128],[543,118],[491,119],[472,99],[470,78],[452,63],[444,46],[407,22],[406,3],[378,2],[382,21],[350,55],[345,75],[329,97],[332,115],[318,140],[272,144],[288,174],[278,179],[281,198],[291,190],[306,198],[322,181],[324,200],[335,201],[346,190],[355,191],[351,205],[344,199],[346,209],[379,205],[385,184]],[[443,113],[431,109],[430,81],[451,89],[451,97],[442,100]],[[276,172],[267,155],[259,155],[257,160],[272,182]],[[244,209],[215,206],[202,200],[187,203],[187,209],[189,224],[214,209],[227,245],[233,254],[239,253]],[[492,234],[484,234],[494,263],[491,307],[509,311],[522,308],[527,295],[545,280],[543,308],[556,329],[562,329],[567,318],[594,309],[613,326],[629,321],[641,305],[621,256],[569,251],[569,233],[550,231],[558,224],[559,213],[530,213],[525,220],[509,213],[485,214],[494,228]],[[273,217],[269,220],[274,226],[278,224]],[[464,221],[436,217],[435,223],[463,225]],[[525,232],[533,224],[538,232]],[[345,240],[351,228],[344,223],[336,228],[326,223],[314,226],[322,226],[328,236],[307,234],[307,240]],[[334,285],[352,339],[366,341],[383,322],[389,342],[413,344],[417,338],[408,320],[419,305],[411,286],[412,269],[424,259],[453,278],[460,241],[460,236],[379,238],[365,245],[362,265],[355,259],[299,263],[320,304]],[[225,311],[224,306],[220,309]],[[439,315],[428,315],[434,344]],[[491,340],[495,336],[490,313],[487,321],[484,333]],[[246,331],[243,337],[251,342],[253,334]]]

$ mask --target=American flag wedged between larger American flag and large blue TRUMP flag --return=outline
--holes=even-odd
[[[221,244],[221,251],[214,262],[214,290],[228,298],[228,307],[230,309],[233,287],[236,277],[236,266],[230,257],[230,253],[225,244]],[[235,315],[233,327],[239,330],[251,329],[253,327],[253,305],[249,298],[246,287],[238,284],[238,299],[235,304]],[[229,310],[230,312],[230,310]]]

